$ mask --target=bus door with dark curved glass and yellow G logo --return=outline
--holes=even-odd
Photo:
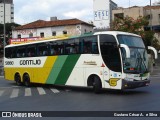
[[[120,50],[115,37],[112,35],[100,35],[100,50],[106,66],[104,68],[105,88],[121,89],[122,67]]]

